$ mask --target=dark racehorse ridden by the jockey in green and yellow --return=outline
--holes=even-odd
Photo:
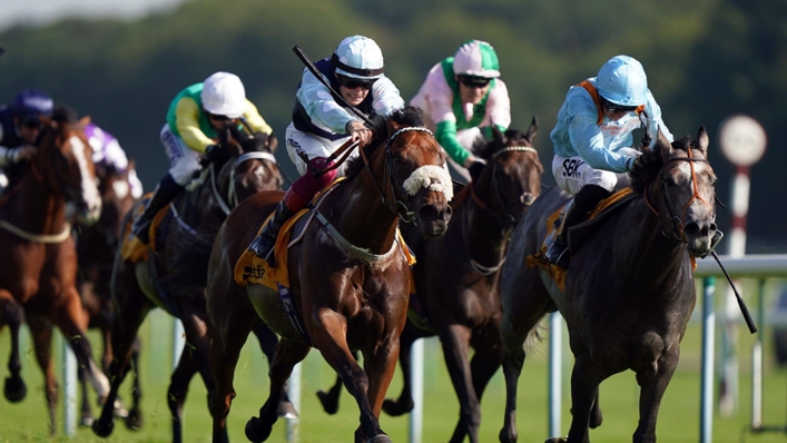
[[[282,186],[282,175],[274,157],[275,137],[257,135],[248,138],[243,131],[233,131],[227,140],[224,149],[229,150],[232,158],[219,173],[214,171],[213,165],[206,167],[200,178],[201,184],[193,191],[180,195],[169,206],[168,214],[161,219],[156,228],[156,236],[150,240],[156,242],[156,246],[151,245],[156,253],[151,250],[149,258],[137,263],[124,260],[119,253],[116,254],[110,283],[116,304],[112,329],[114,360],[108,373],[112,384],[108,403],[92,425],[94,432],[99,436],[108,436],[112,432],[112,407],[109,401],[116,400],[118,387],[129,370],[128,362],[137,331],[154,307],[161,307],[179,318],[186,333],[186,346],[173,373],[167,393],[168,406],[173,414],[174,442],[183,440],[183,405],[195,373],[199,372],[210,391],[205,288],[178,287],[171,282],[176,280],[178,273],[187,274],[179,279],[195,279],[188,266],[181,266],[180,262],[188,262],[193,245],[213,243],[220,222],[233,206],[256,191],[278,189]],[[130,223],[130,213],[126,215],[122,226]],[[269,337],[273,337],[273,341],[262,343],[263,351],[273,356],[275,335],[270,333]]]

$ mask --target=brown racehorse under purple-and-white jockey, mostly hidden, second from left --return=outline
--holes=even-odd
[[[94,225],[80,226],[77,234],[77,256],[79,257],[77,287],[82,297],[82,306],[90,316],[89,327],[101,331],[104,342],[101,368],[105,372],[109,371],[109,364],[112,361],[111,331],[115,321],[109,280],[112,274],[115,250],[119,246],[120,220],[135,203],[128,180],[128,175],[134,167],[134,161],[129,163],[128,168],[124,171],[117,170],[109,164],[96,165],[96,175],[99,179],[98,191],[101,195],[101,216]],[[116,402],[116,415],[125,417],[126,425],[130,429],[139,429],[142,423],[142,414],[139,410],[139,400],[142,393],[139,383],[138,355],[139,341],[135,343],[135,351],[131,355],[135,371],[134,386],[131,387],[132,407],[130,411],[126,411],[119,402]],[[78,371],[82,385],[80,424],[90,426],[94,419],[88,401],[85,371],[82,368]]]

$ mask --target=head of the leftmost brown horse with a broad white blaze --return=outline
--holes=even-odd
[[[42,121],[33,171],[48,183],[52,194],[63,197],[67,219],[91,225],[101,214],[101,197],[92,148],[85,137],[85,126],[90,118],[78,121],[42,118]]]

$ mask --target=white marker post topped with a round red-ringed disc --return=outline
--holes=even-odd
[[[731,193],[732,230],[727,242],[729,256],[737,258],[746,255],[746,215],[749,210],[750,168],[765,154],[765,130],[754,118],[734,115],[727,117],[719,127],[719,145],[725,157],[736,166]],[[735,293],[732,288],[728,288],[724,315],[720,316],[724,325],[720,353],[722,362],[719,377],[719,413],[721,416],[730,416],[738,408],[738,361],[736,355],[739,315]],[[760,358],[761,346],[763,342],[758,335],[752,353],[754,355],[759,354]],[[757,366],[755,365],[755,367]],[[757,381],[758,375],[752,373],[752,376]],[[755,383],[754,386],[757,384]]]

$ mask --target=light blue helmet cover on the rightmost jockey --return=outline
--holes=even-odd
[[[642,65],[629,56],[616,56],[599,70],[599,95],[620,106],[641,106],[648,101],[648,77]]]

